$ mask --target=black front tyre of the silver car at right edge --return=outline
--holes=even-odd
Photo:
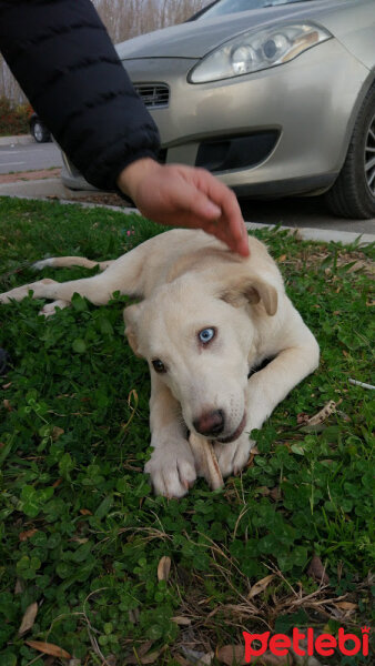
[[[375,216],[375,84],[363,101],[344,165],[325,200],[341,218]]]

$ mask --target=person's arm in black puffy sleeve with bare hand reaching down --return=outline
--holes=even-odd
[[[84,178],[155,222],[200,228],[249,254],[234,194],[207,171],[158,163],[155,123],[90,0],[0,0],[0,49]]]

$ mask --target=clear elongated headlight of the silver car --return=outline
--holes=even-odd
[[[274,26],[250,30],[225,42],[191,70],[190,83],[241,77],[288,62],[332,34],[314,23]]]

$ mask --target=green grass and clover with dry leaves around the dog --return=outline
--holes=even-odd
[[[160,231],[110,210],[0,199],[0,291],[33,281],[28,266],[45,255],[115,258]],[[322,362],[254,432],[260,454],[223,491],[200,481],[179,502],[152,495],[149,376],[123,337],[126,299],[95,309],[75,296],[49,321],[30,297],[1,306],[0,346],[12,357],[0,380],[1,666],[41,664],[32,642],[74,664],[175,666],[191,650],[243,645],[242,630],[361,635],[371,624],[374,394],[348,379],[374,383],[373,249],[256,235]],[[336,411],[306,427],[328,401]],[[169,577],[158,576],[162,557]]]

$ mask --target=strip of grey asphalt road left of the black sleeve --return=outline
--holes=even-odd
[[[54,143],[0,145],[0,173],[34,171],[61,165],[60,150]]]

